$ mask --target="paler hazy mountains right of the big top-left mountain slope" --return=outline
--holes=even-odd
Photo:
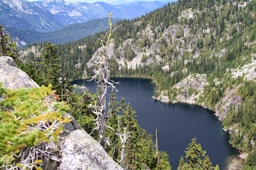
[[[34,3],[44,6],[64,26],[77,22],[86,22],[91,19],[108,17],[109,13],[113,13],[113,17],[116,18],[132,19],[164,6],[164,3],[160,3],[158,1],[120,5],[112,5],[101,2],[92,4],[67,3],[63,0],[43,0],[35,1]]]

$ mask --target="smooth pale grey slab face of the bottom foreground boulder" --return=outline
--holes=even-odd
[[[60,150],[62,158],[58,169],[122,169],[84,130],[74,130],[67,135]]]

